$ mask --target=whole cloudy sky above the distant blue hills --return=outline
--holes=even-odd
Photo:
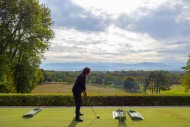
[[[186,63],[190,0],[40,0],[55,37],[43,62]]]

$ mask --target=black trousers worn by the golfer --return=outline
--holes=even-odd
[[[81,107],[81,104],[82,104],[81,93],[73,91],[73,95],[74,95],[75,107],[76,107],[75,114],[76,114],[76,117],[79,117],[80,107]]]

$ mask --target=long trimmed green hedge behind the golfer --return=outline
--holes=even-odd
[[[90,96],[93,106],[190,106],[190,96]],[[89,106],[83,98],[83,105]],[[0,95],[0,106],[74,106],[69,95]]]

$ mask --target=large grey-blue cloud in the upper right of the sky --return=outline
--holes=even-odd
[[[121,14],[115,23],[125,30],[147,33],[156,40],[181,40],[189,37],[189,11],[187,1],[166,1],[153,9],[139,8],[133,15]]]

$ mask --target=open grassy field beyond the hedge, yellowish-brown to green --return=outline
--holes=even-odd
[[[72,95],[72,87],[73,85],[66,85],[66,84],[44,84],[38,85],[33,91],[33,94],[66,94]],[[101,86],[101,85],[87,85],[87,92],[88,95],[132,95],[137,93],[129,93],[126,92],[123,88],[115,88],[110,86]],[[138,93],[138,94],[145,94],[147,93]],[[190,95],[190,93],[184,92],[184,87],[181,85],[173,85],[171,90],[169,91],[161,91],[160,95]]]

